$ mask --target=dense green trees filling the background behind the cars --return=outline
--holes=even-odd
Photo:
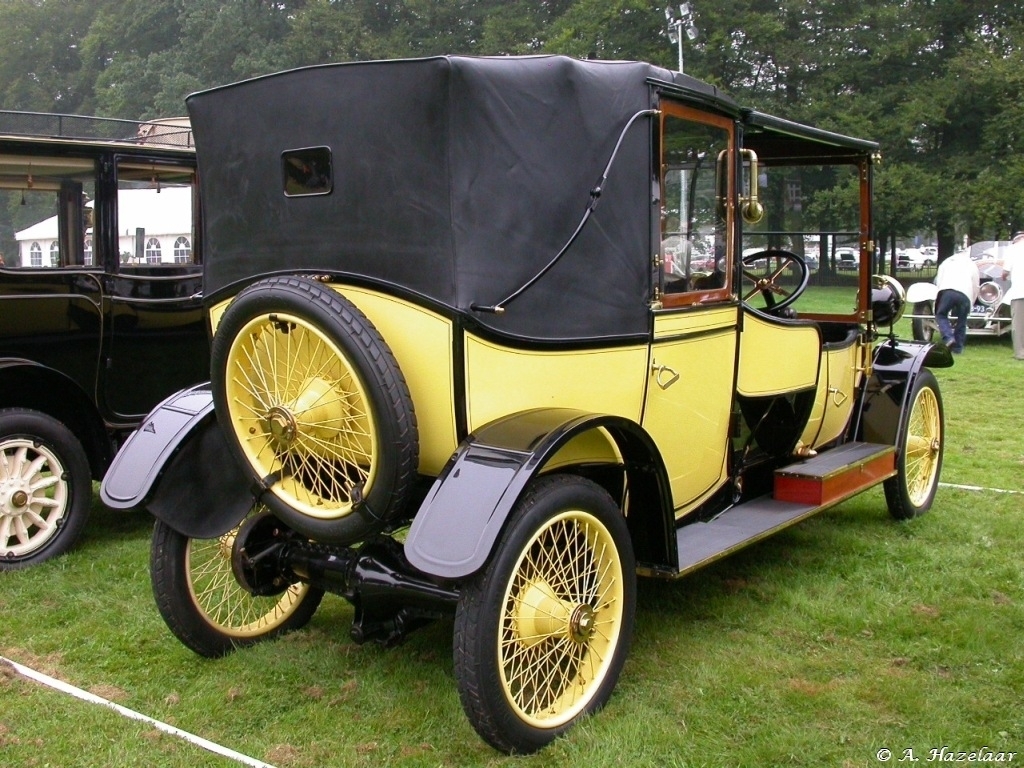
[[[675,69],[652,0],[6,0],[0,105],[144,119],[278,70],[556,52]],[[687,74],[878,140],[879,240],[1024,227],[1024,0],[693,0]]]

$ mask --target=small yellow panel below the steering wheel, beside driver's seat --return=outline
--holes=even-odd
[[[783,326],[746,312],[739,338],[736,391],[761,397],[813,387],[820,356],[815,326]]]

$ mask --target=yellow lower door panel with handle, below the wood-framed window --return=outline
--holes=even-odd
[[[683,514],[726,481],[738,307],[655,314],[643,426]]]

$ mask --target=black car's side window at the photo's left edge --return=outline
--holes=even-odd
[[[87,264],[95,188],[91,160],[0,155],[0,267]]]

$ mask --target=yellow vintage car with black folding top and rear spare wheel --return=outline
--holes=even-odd
[[[357,641],[454,612],[470,721],[530,752],[608,699],[638,574],[879,484],[931,507],[951,357],[895,337],[868,271],[873,142],[560,56],[314,67],[188,112],[211,380],[102,492],[158,518],[197,652],[326,591]],[[822,299],[812,241],[861,254]]]

